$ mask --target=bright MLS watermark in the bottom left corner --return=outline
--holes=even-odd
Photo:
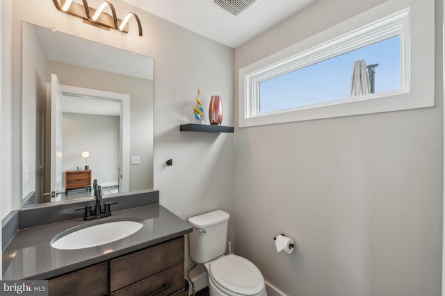
[[[0,281],[0,296],[48,296],[48,281]]]

